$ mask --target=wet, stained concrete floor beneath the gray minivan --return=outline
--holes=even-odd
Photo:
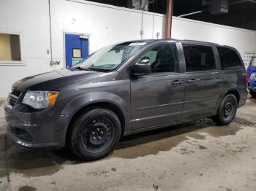
[[[256,99],[236,117],[256,122]],[[124,138],[107,158],[27,149],[0,120],[0,190],[256,190],[256,125],[190,122]]]

